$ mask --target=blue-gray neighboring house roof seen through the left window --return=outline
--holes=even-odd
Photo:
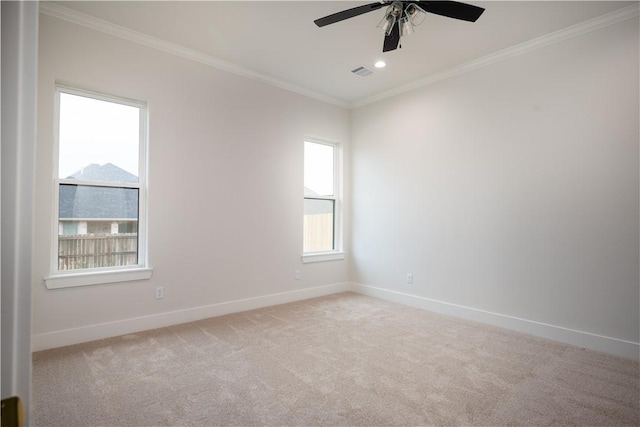
[[[111,163],[89,165],[67,179],[138,182],[138,177]],[[61,220],[138,219],[138,189],[60,184],[58,216]]]

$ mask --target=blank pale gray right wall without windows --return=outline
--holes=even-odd
[[[638,48],[636,18],[357,109],[352,280],[637,343]]]

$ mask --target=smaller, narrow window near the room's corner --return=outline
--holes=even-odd
[[[339,162],[338,146],[326,142],[304,143],[303,253],[311,255],[340,252],[339,242]],[[304,259],[303,258],[303,259]],[[337,257],[338,259],[343,256]],[[316,257],[315,260],[336,259]]]

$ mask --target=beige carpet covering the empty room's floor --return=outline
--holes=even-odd
[[[638,363],[353,293],[48,350],[40,426],[638,425]]]

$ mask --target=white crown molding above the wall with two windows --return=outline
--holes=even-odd
[[[241,67],[239,65],[232,64],[222,59],[216,58],[211,55],[198,52],[193,49],[186,48],[176,43],[171,43],[166,40],[159,39],[157,37],[150,36],[121,25],[114,24],[103,19],[96,18],[86,13],[78,12],[69,9],[59,4],[41,1],[40,12],[45,15],[52,16],[54,18],[62,19],[77,25],[81,25],[92,30],[100,31],[105,34],[109,34],[121,39],[125,39],[130,42],[134,42],[143,46],[147,46],[153,49],[160,50],[162,52],[169,53],[171,55],[179,56],[191,61],[199,62],[210,67],[214,67],[229,73],[233,73],[242,77],[246,77],[252,80],[256,80],[262,83],[266,83],[271,86],[275,86],[280,89],[284,89],[290,92],[297,93],[309,98],[316,99],[318,101],[326,102],[342,108],[350,108],[351,105],[339,99],[335,99],[312,90],[306,89],[301,86],[297,86],[273,77],[269,77],[264,74],[257,73],[248,68]]]

